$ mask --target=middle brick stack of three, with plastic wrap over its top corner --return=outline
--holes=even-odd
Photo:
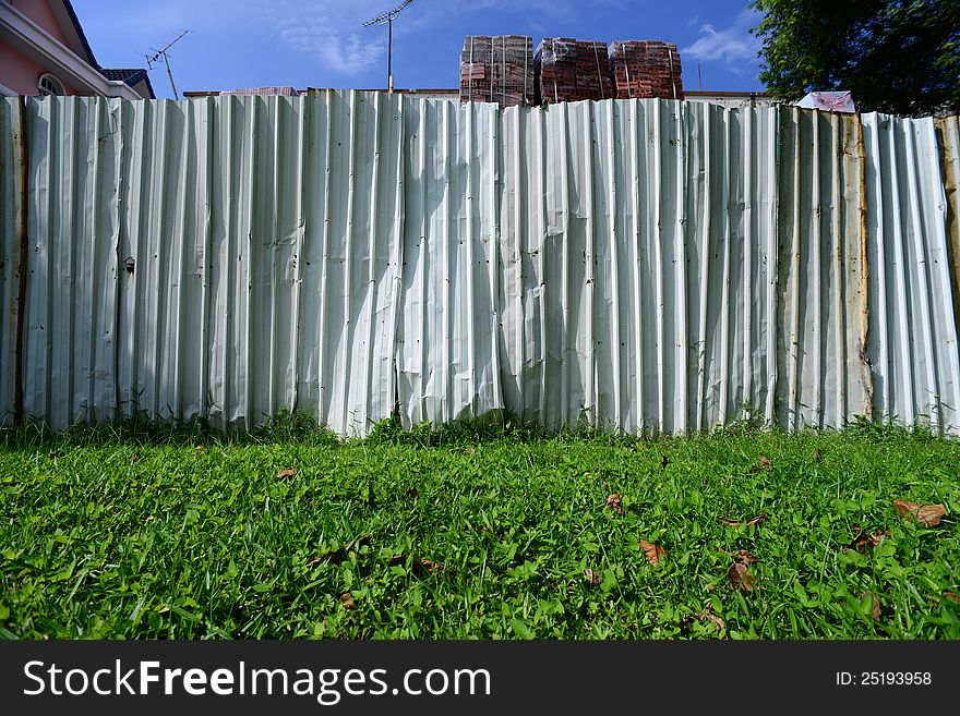
[[[538,105],[616,96],[605,43],[544,37],[533,53],[533,66]]]

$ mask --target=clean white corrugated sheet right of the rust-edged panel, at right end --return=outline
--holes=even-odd
[[[932,119],[863,118],[871,252],[871,361],[883,417],[960,425],[955,295],[940,149]],[[951,151],[956,151],[956,143]],[[952,240],[948,240],[948,231]]]

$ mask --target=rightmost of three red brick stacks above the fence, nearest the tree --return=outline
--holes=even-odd
[[[683,99],[676,45],[660,40],[613,43],[610,73],[621,99]]]

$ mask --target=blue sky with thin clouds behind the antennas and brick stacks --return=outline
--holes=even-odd
[[[104,66],[145,66],[144,54],[189,34],[171,52],[177,88],[386,85],[386,27],[361,24],[399,0],[73,0]],[[757,15],[748,0],[415,0],[394,23],[397,87],[456,87],[465,35],[532,35],[676,43],[683,81],[697,89],[757,90]],[[151,82],[172,97],[166,70]]]

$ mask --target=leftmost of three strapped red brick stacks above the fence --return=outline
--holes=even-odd
[[[460,101],[532,105],[532,47],[528,35],[467,35],[460,53]]]

